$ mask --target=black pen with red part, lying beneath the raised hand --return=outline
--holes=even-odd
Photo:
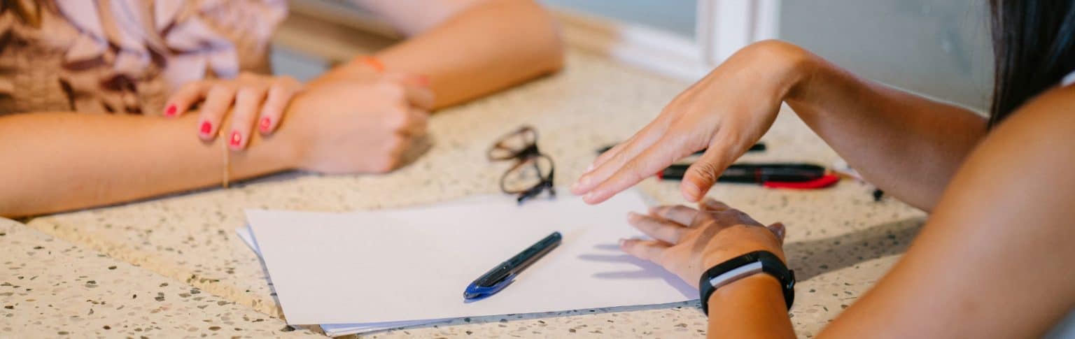
[[[690,164],[671,165],[657,174],[663,180],[682,180]],[[758,183],[768,188],[820,189],[840,181],[822,166],[805,163],[739,163],[728,166],[719,182]]]

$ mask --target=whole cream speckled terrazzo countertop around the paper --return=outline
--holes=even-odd
[[[0,337],[317,336],[283,330],[260,262],[234,234],[243,208],[346,211],[497,193],[507,164],[488,163],[485,150],[524,123],[536,128],[539,145],[556,160],[557,185],[567,186],[597,148],[629,137],[687,86],[584,53],[571,51],[568,61],[560,74],[439,113],[430,123],[433,148],[388,175],[283,174],[2,223]],[[745,160],[836,159],[790,112],[763,141],[769,150]],[[683,202],[675,182],[640,187],[658,202]],[[719,185],[711,196],[788,225],[786,250],[800,279],[792,322],[812,337],[894,263],[924,220],[844,180],[818,191]],[[705,316],[697,305],[473,318],[366,337],[699,337]]]

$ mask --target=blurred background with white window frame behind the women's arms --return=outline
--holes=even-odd
[[[538,1],[559,18],[573,49],[685,82],[750,42],[780,39],[890,86],[977,110],[989,103],[984,1]],[[291,0],[273,61],[277,73],[307,78],[399,38],[346,0]]]

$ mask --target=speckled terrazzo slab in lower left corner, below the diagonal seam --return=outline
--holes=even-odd
[[[0,248],[0,338],[318,337],[13,221]]]

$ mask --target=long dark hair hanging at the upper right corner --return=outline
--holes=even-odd
[[[994,126],[1075,71],[1075,0],[990,0]]]

